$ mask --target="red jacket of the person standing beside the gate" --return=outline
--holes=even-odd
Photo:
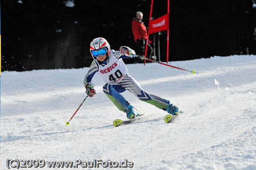
[[[137,18],[133,18],[133,21],[131,22],[131,28],[133,29],[135,42],[137,42],[137,39],[147,39],[147,28],[143,22],[139,22]]]

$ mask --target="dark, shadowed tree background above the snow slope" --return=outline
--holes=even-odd
[[[143,12],[148,26],[151,0],[74,0],[74,7],[65,1],[1,1],[2,71],[89,67],[92,39],[104,37],[115,50],[135,49],[131,20],[136,11]],[[170,0],[169,60],[256,54],[254,2]],[[166,13],[167,0],[155,0],[152,18]],[[160,36],[162,61],[166,35]]]

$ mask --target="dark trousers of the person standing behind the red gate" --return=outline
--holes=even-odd
[[[137,46],[137,51],[136,54],[140,55],[140,56],[144,56],[145,55],[145,49],[146,49],[146,40],[145,39],[137,39],[136,42],[136,46]],[[147,44],[147,58],[151,59],[153,53],[153,48],[151,47],[150,43]],[[141,63],[139,62],[139,58],[135,58],[134,63]]]

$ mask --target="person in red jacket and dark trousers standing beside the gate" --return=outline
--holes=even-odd
[[[143,13],[141,11],[138,11],[136,13],[136,17],[133,18],[133,21],[131,22],[131,28],[133,30],[134,40],[137,45],[137,53],[140,56],[144,56],[146,39],[147,39],[147,28],[142,22],[142,19],[143,19]],[[148,58],[151,59],[153,48],[149,43],[147,48],[149,50]],[[135,59],[138,59],[138,58],[135,58]],[[134,60],[134,63],[138,63],[138,60]]]

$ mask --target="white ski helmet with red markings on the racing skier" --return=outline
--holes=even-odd
[[[90,43],[90,54],[92,55],[92,51],[96,49],[106,48],[108,52],[108,56],[110,55],[110,45],[105,38],[95,38]],[[93,59],[94,56],[92,55]]]

